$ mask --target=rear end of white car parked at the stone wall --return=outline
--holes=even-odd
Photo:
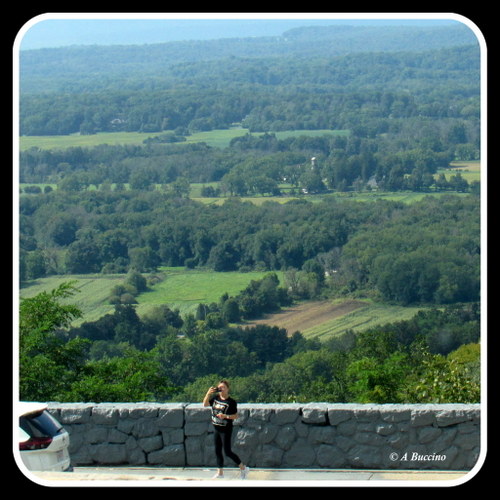
[[[47,411],[45,403],[20,402],[19,450],[28,470],[70,470],[69,434]]]

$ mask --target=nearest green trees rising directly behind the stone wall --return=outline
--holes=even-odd
[[[231,377],[245,402],[475,403],[479,307],[454,305],[318,343],[277,327],[182,320],[165,306],[139,318],[116,306],[70,327],[71,283],[20,304],[20,397],[57,401],[198,401]],[[148,331],[150,345],[142,345]],[[446,331],[446,335],[443,332]],[[100,335],[103,337],[99,336]]]

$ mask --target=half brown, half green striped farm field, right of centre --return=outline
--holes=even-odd
[[[422,308],[374,303],[370,300],[324,300],[303,302],[276,314],[248,323],[300,331],[307,338],[325,340],[346,330],[366,330],[376,325],[411,318]]]

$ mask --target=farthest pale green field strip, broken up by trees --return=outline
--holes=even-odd
[[[148,137],[155,137],[163,134],[163,132],[101,132],[92,135],[51,135],[51,136],[22,136],[19,138],[19,149],[25,151],[27,149],[36,147],[41,149],[64,149],[70,147],[93,147],[99,144],[109,145],[140,145]],[[177,144],[189,144],[195,142],[205,142],[209,146],[217,148],[225,148],[235,137],[241,137],[249,133],[248,129],[241,127],[234,127],[224,130],[210,130],[208,132],[197,132],[186,137],[185,142]],[[334,135],[347,135],[348,130],[291,130],[284,132],[276,132],[278,139],[285,137],[297,137],[300,135],[307,135],[315,137],[324,134]],[[254,135],[261,135],[257,133]]]

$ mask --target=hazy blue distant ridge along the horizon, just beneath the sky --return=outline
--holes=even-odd
[[[178,63],[230,57],[333,57],[357,52],[442,49],[477,44],[465,25],[315,26],[282,36],[223,38],[143,45],[88,45],[21,51],[21,90],[43,92],[47,78],[165,74]]]

